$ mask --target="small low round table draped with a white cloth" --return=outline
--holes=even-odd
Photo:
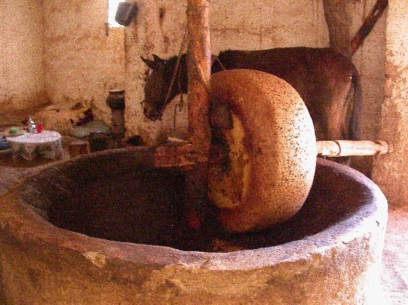
[[[18,137],[7,137],[6,139],[10,143],[13,155],[21,155],[27,160],[36,156],[55,159],[62,155],[61,135],[56,131],[28,132]]]

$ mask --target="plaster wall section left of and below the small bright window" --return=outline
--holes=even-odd
[[[109,124],[108,91],[124,86],[124,30],[109,28],[106,0],[44,0],[46,90],[53,104],[93,106]]]

